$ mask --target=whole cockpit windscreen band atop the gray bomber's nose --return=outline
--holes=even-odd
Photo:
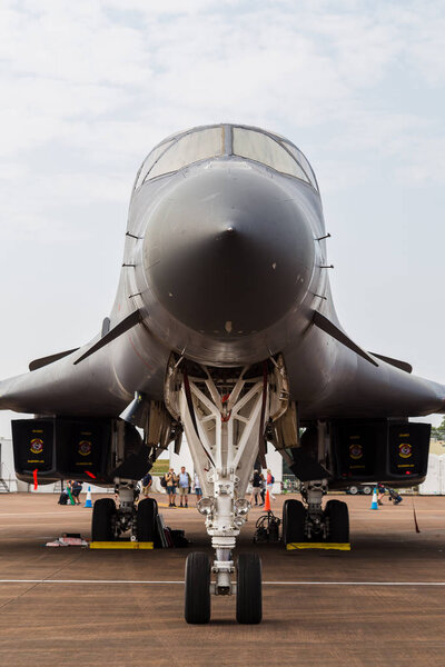
[[[304,180],[318,191],[309,162],[290,141],[259,128],[231,125],[200,127],[168,137],[146,158],[136,179],[135,189],[158,176],[221,156],[239,156],[260,162],[276,171]]]

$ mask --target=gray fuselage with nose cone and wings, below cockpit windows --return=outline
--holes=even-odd
[[[164,400],[171,351],[206,366],[281,352],[301,419],[414,417],[445,387],[375,365],[314,323],[342,329],[330,295],[318,191],[255,160],[221,155],[145,181],[131,198],[111,329],[142,321],[78,365],[96,342],[0,384],[0,406],[117,416],[140,391]],[[322,239],[322,240],[320,240]]]

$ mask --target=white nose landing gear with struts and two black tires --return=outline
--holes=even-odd
[[[208,623],[209,595],[236,594],[238,623],[260,623],[261,563],[256,554],[243,554],[235,568],[233,551],[250,509],[245,495],[255,460],[258,452],[265,456],[266,425],[287,408],[284,361],[279,357],[244,368],[209,368],[171,358],[165,396],[187,437],[204,490],[198,510],[206,516],[216,551],[211,584],[207,556],[192,554],[187,559],[186,620]]]

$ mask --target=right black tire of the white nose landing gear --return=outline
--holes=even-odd
[[[261,560],[255,552],[238,558],[236,618],[244,625],[261,623]]]

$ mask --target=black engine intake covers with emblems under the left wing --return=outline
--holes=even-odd
[[[119,459],[118,439],[123,452]],[[39,484],[78,479],[110,486],[118,471],[140,479],[149,468],[148,449],[139,432],[118,419],[16,419],[12,445],[16,474],[28,482],[37,471]]]

